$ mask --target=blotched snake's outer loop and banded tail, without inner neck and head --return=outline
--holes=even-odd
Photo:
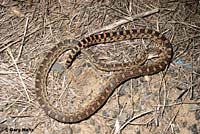
[[[110,43],[136,38],[149,38],[150,40],[155,42],[159,46],[159,49],[161,51],[158,60],[150,65],[130,67],[129,69],[125,69],[122,73],[115,74],[112,79],[108,80],[105,87],[103,87],[104,90],[100,93],[100,95],[90,104],[88,104],[82,111],[75,113],[64,113],[63,111],[53,107],[52,104],[49,103],[46,92],[47,77],[52,65],[61,54],[68,50],[71,50],[68,53],[68,58],[66,61],[67,66],[69,66],[76,55],[78,55],[82,49],[99,43]],[[63,123],[79,122],[94,114],[106,102],[109,96],[113,93],[114,89],[122,82],[130,78],[151,75],[163,71],[166,66],[170,64],[172,56],[173,50],[169,40],[166,39],[163,34],[151,29],[132,29],[117,32],[104,32],[101,34],[90,35],[82,39],[81,41],[64,40],[63,42],[58,43],[47,53],[37,69],[35,80],[35,91],[37,100],[45,113],[55,120]],[[106,68],[106,65],[104,66],[104,68]]]

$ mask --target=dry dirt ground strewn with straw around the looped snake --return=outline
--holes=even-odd
[[[45,52],[64,39],[139,27],[172,42],[173,61],[165,71],[121,84],[80,123],[63,124],[44,113],[34,87]],[[136,39],[89,51],[105,63],[121,63],[140,57],[148,44]],[[55,107],[78,112],[116,73],[96,69],[88,57],[84,51],[66,69],[63,54],[53,66],[48,97]],[[199,134],[200,1],[0,0],[0,133]]]

